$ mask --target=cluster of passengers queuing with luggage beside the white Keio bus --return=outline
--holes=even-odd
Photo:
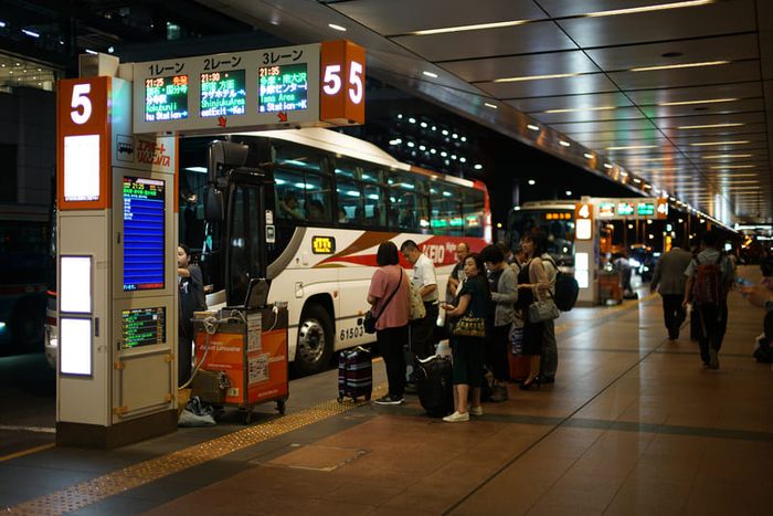
[[[407,375],[406,344],[411,361],[411,355],[419,359],[434,355],[440,337],[448,337],[455,410],[444,421],[462,422],[469,421],[470,414],[483,415],[484,394],[491,401],[508,398],[513,326],[522,331],[520,359],[528,371],[520,389],[554,382],[558,349],[553,320],[532,323],[527,316],[532,303],[550,303],[554,292],[558,267],[547,246],[548,238],[542,231],[525,235],[516,254],[501,242],[470,253],[462,242],[456,248],[457,263],[447,291],[441,295],[434,265],[414,241],[403,242],[400,251],[393,242],[383,242],[377,252],[379,268],[368,293],[371,310],[379,314],[377,343],[389,381],[388,393],[375,403],[400,404],[405,392],[415,389]],[[411,277],[399,265],[399,253],[413,265]],[[425,308],[424,317],[414,320],[410,306],[412,287],[419,291]],[[445,310],[445,335],[435,330],[438,309]],[[464,324],[472,320],[479,325],[474,336],[454,335],[454,326],[463,319]]]

